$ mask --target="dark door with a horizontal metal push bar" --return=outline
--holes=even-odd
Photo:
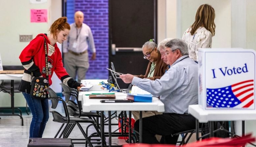
[[[156,38],[156,0],[109,0],[109,67],[117,72],[145,74],[148,60],[142,45]]]

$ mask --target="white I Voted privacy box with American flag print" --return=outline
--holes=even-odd
[[[208,110],[255,110],[255,53],[198,49],[198,104]]]

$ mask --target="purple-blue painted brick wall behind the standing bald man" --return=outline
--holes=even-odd
[[[84,23],[90,26],[95,47],[96,60],[90,60],[86,79],[108,79],[108,0],[67,0],[68,22],[74,22],[74,12],[84,13]],[[89,51],[89,59],[91,59]]]

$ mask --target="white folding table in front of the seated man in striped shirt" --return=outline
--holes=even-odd
[[[140,111],[140,118],[142,118],[142,111],[158,111],[164,112],[164,104],[157,98],[153,98],[152,103],[146,102],[133,102],[133,103],[101,103],[102,99],[89,99],[89,96],[86,94],[90,93],[107,93],[108,91],[87,91],[79,92],[78,100],[82,101],[82,107],[84,112],[90,111],[101,111],[101,123],[103,124],[103,112],[108,111],[108,115],[111,115],[111,111]],[[115,92],[116,99],[126,99],[127,94],[122,92]],[[129,119],[131,113],[129,112]],[[111,124],[111,120],[108,119]],[[129,120],[130,125],[130,120]],[[108,126],[109,129],[109,146],[111,146],[111,125]],[[100,125],[101,130],[101,146],[104,146],[104,125]],[[142,119],[140,119],[139,124],[139,134],[140,142],[142,142]],[[131,129],[129,127],[129,142],[131,142]]]

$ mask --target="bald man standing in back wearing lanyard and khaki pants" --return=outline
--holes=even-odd
[[[75,23],[70,25],[68,40],[63,42],[64,67],[73,79],[77,75],[77,82],[81,82],[89,68],[88,48],[93,53],[92,60],[96,59],[96,49],[92,31],[83,23],[83,12],[75,12],[74,20]]]

